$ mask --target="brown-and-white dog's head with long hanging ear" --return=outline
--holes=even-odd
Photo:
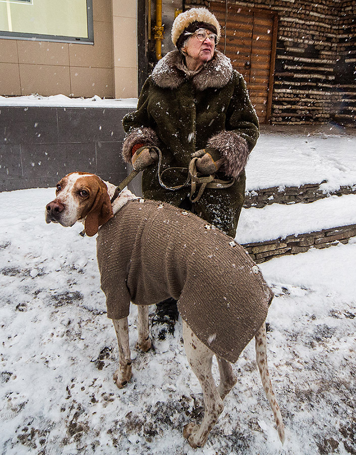
[[[57,184],[56,199],[46,205],[47,223],[73,226],[84,221],[85,233],[95,235],[101,224],[113,217],[108,187],[95,174],[72,172]]]

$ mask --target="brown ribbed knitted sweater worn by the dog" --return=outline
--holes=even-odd
[[[195,335],[230,362],[260,329],[273,298],[231,237],[166,203],[127,202],[99,229],[97,260],[110,319],[128,316],[130,301],[174,297]]]

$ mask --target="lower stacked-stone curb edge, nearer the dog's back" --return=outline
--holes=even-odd
[[[274,257],[305,253],[310,248],[328,248],[332,245],[337,245],[339,242],[346,244],[353,236],[356,236],[356,224],[291,235],[285,238],[280,237],[264,242],[245,243],[242,246],[248,252],[251,259],[259,264]]]

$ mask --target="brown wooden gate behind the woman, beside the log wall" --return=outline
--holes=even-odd
[[[227,7],[227,8],[226,8]],[[233,4],[210,2],[221,25],[218,49],[231,59],[248,87],[261,123],[269,123],[277,42],[277,14]],[[225,38],[226,22],[226,38]]]

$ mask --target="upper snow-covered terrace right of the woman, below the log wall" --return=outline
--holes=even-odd
[[[246,167],[248,191],[320,184],[325,192],[356,185],[356,132],[337,125],[262,126]],[[273,148],[271,148],[273,144]]]

